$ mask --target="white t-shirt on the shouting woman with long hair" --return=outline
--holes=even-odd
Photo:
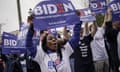
[[[71,72],[69,57],[73,53],[69,43],[66,43],[62,50],[62,61],[57,53],[47,54],[41,48],[41,44],[37,48],[37,54],[34,60],[40,65],[41,72]]]

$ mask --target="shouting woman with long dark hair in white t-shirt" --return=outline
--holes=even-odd
[[[71,72],[69,57],[73,53],[72,48],[78,45],[81,23],[75,25],[73,36],[64,46],[61,46],[56,34],[48,33],[43,37],[34,59],[39,63],[41,72]]]

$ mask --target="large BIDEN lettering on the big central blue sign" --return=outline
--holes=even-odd
[[[73,11],[74,7],[72,6],[71,3],[65,4],[63,3],[60,6],[56,6],[57,4],[44,4],[42,6],[37,6],[34,9],[34,14],[35,15],[47,15],[47,14],[55,14],[58,11],[63,10],[63,12],[68,12],[68,11]]]

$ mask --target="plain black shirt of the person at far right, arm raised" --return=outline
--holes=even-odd
[[[105,37],[109,44],[109,61],[110,66],[118,70],[119,67],[119,58],[118,58],[118,49],[117,49],[117,36],[119,30],[115,30],[112,27],[112,22],[106,22],[105,28]],[[117,71],[119,72],[119,71]]]

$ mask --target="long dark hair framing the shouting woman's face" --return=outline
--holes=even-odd
[[[48,54],[47,50],[48,50],[49,47],[47,47],[47,45],[46,45],[46,43],[47,43],[47,36],[48,36],[48,34],[46,34],[46,35],[43,37],[43,40],[42,40],[42,48],[43,48],[43,51]],[[60,60],[62,60],[61,47],[62,47],[62,46],[61,46],[60,44],[58,44],[58,46],[57,46],[57,55],[60,56]]]

